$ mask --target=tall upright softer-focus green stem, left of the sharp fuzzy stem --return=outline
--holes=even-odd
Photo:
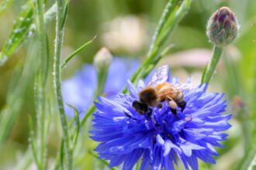
[[[36,35],[40,39],[40,50],[39,56],[41,59],[39,74],[36,77],[35,90],[36,90],[36,111],[37,111],[37,122],[38,122],[38,134],[39,134],[39,152],[37,153],[40,158],[40,169],[47,168],[47,140],[46,135],[47,131],[45,131],[45,121],[46,121],[46,86],[47,86],[47,76],[48,76],[48,64],[49,64],[49,53],[47,52],[49,49],[47,48],[47,33],[45,29],[45,21],[44,21],[44,1],[37,0],[36,1]]]

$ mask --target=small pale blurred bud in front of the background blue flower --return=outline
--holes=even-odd
[[[103,47],[98,53],[96,53],[93,63],[97,70],[105,70],[109,68],[111,62],[112,54],[109,52],[109,49]]]

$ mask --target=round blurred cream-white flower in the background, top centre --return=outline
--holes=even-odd
[[[136,53],[147,42],[145,30],[145,19],[135,15],[118,17],[103,24],[102,42],[109,49],[123,49],[128,53]]]

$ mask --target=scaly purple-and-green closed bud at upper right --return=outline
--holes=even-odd
[[[230,8],[222,7],[207,23],[207,36],[216,46],[226,46],[237,37],[237,19]]]

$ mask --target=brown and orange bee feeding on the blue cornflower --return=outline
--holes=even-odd
[[[168,83],[169,69],[167,65],[159,67],[151,77],[147,87],[140,90],[139,99],[133,101],[133,108],[139,114],[152,114],[150,107],[162,107],[162,102],[168,102],[172,114],[177,115],[177,107],[183,111],[186,106],[182,88]]]

